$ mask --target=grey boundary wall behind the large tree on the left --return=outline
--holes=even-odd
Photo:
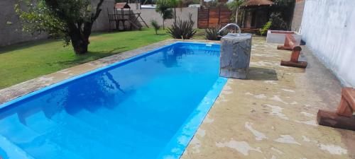
[[[98,0],[92,0],[97,2]],[[46,34],[30,35],[21,31],[21,23],[18,20],[13,6],[15,0],[0,0],[0,47],[12,45],[18,42],[27,42],[32,40],[45,39]],[[94,23],[93,30],[101,31],[108,30],[109,22],[107,17],[107,8],[113,8],[114,0],[105,0],[102,5],[102,13]]]

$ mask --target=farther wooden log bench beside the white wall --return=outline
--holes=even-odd
[[[300,67],[306,68],[307,61],[298,61],[298,57],[300,57],[300,52],[302,48],[300,47],[300,43],[296,42],[295,37],[292,34],[285,35],[285,43],[283,45],[279,45],[278,49],[285,49],[291,50],[291,59],[290,61],[281,60],[282,66],[293,66],[293,67]]]

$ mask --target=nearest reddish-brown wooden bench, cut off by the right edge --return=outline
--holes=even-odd
[[[342,88],[342,100],[340,100],[337,107],[337,112],[319,110],[317,113],[317,122],[324,126],[355,130],[354,110],[355,89]]]

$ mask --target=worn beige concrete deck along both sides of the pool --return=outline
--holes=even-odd
[[[0,103],[151,49],[165,40],[0,90]],[[229,79],[182,155],[192,158],[355,158],[355,131],[318,126],[319,109],[335,110],[340,84],[303,47],[307,69],[280,66],[290,51],[253,37],[249,79]]]

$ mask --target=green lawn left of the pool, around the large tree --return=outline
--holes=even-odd
[[[71,46],[62,47],[61,40],[0,47],[0,88],[170,38],[165,31],[159,33],[155,35],[153,29],[95,33],[90,39],[89,53],[80,56],[73,53]]]

